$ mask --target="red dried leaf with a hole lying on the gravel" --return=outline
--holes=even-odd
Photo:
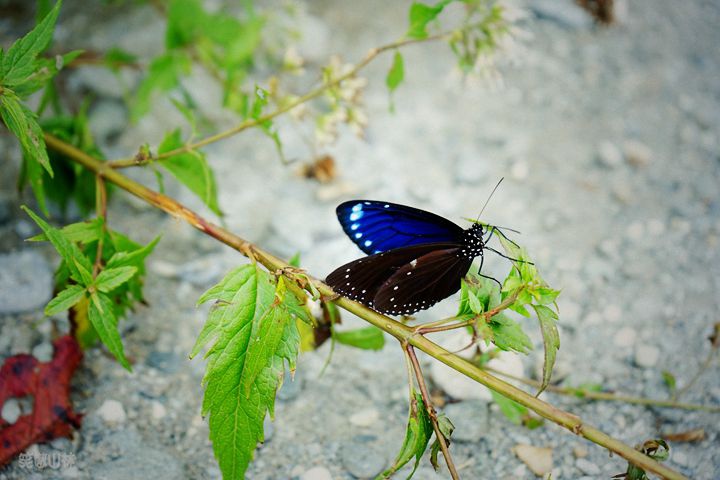
[[[80,427],[70,405],[70,379],[82,359],[77,341],[65,335],[54,342],[52,361],[39,362],[28,354],[14,355],[0,368],[0,406],[13,397],[32,395],[33,411],[12,425],[0,417],[0,466],[30,445],[68,437]]]

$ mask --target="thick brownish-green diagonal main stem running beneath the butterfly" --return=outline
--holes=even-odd
[[[189,223],[201,232],[210,235],[222,243],[238,250],[244,255],[255,258],[268,270],[273,272],[277,270],[285,271],[284,269],[288,269],[290,267],[287,263],[272,254],[261,250],[247,240],[205,220],[197,213],[180,204],[178,201],[150,190],[149,188],[124,176],[117,170],[114,170],[108,163],[101,162],[86,154],[82,150],[63,142],[50,134],[45,134],[45,142],[49,148],[68,156],[71,160],[80,163],[95,174],[102,175],[105,180],[114,183],[118,187],[167,212],[171,216]],[[309,275],[307,278],[313,282],[317,290],[322,295],[326,297],[334,297],[337,295],[329,286],[325,285],[321,281],[313,279]],[[643,455],[631,446],[616,440],[595,427],[584,423],[580,417],[535,398],[513,385],[490,375],[480,369],[477,365],[470,363],[468,360],[465,360],[457,355],[453,355],[444,348],[428,340],[425,336],[414,332],[411,327],[408,327],[390,317],[375,312],[374,310],[345,297],[337,297],[335,304],[389,333],[400,340],[401,343],[406,342],[413,347],[422,350],[431,357],[441,361],[463,375],[466,375],[467,377],[485,385],[501,395],[506,396],[507,398],[515,400],[521,405],[533,410],[538,415],[567,428],[574,434],[582,436],[593,443],[607,448],[611,452],[616,453],[647,472],[657,474],[669,480],[686,480],[687,478],[671,468],[658,463],[652,458]]]

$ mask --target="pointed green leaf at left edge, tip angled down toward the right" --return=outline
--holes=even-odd
[[[20,99],[11,90],[0,94],[0,117],[8,130],[20,141],[23,153],[42,165],[52,177],[53,171],[50,167],[43,131],[37,118],[20,103]]]

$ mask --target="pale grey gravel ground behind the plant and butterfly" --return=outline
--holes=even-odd
[[[396,38],[407,7],[310,2],[300,15],[301,53],[311,63],[336,52],[353,61]],[[334,185],[299,179],[256,132],[210,147],[227,226],[279,255],[300,251],[304,266],[322,277],[358,256],[334,218],[341,199],[409,203],[460,221],[478,213],[504,176],[484,217],[522,230],[521,242],[546,279],[563,289],[556,378],[664,398],[661,372],[686,383],[707,356],[707,336],[719,320],[720,6],[636,0],[610,29],[593,26],[570,2],[533,2],[527,12],[519,23],[521,45],[498,66],[502,85],[464,81],[443,45],[412,47],[393,115],[384,88],[389,59],[372,64],[367,140],[344,135],[329,150],[340,172]],[[66,12],[57,38],[71,47],[120,43],[144,51],[162,39],[147,13],[135,9],[98,20],[91,11]],[[168,116],[177,118],[160,106],[126,128],[118,92],[101,73],[78,72],[69,84],[98,95],[93,125],[111,157],[157,143]],[[299,139],[288,134],[286,141],[290,158],[307,155]],[[48,249],[21,243],[34,229],[12,190],[19,154],[6,135],[0,151],[7,152],[2,171],[12,173],[3,175],[0,191],[6,252],[0,254],[0,359],[27,351],[47,358],[52,324],[41,319],[51,286],[29,280],[45,278],[57,260]],[[169,192],[202,210],[185,192]],[[74,402],[86,415],[82,430],[72,440],[33,447],[73,453],[76,465],[29,471],[15,462],[0,470],[0,479],[219,477],[199,414],[204,366],[187,354],[206,314],[195,299],[243,260],[121,195],[110,221],[141,241],[163,234],[149,260],[150,305],[122,324],[134,371],[128,374],[99,350],[88,352],[74,381]],[[497,259],[486,265],[498,277],[508,268]],[[441,318],[454,305],[442,302],[418,318]],[[349,315],[344,323],[362,324]],[[62,320],[56,324],[63,328]],[[536,353],[513,368],[536,375],[541,343],[533,324],[528,330]],[[337,348],[320,376],[328,352],[325,345],[300,358],[248,478],[366,478],[394,457],[407,409],[399,349],[392,342],[382,352]],[[556,480],[624,471],[621,459],[555,425],[529,431],[509,423],[478,386],[426,359],[423,365],[435,386],[452,392],[445,408],[457,427],[452,452],[463,478],[534,478],[512,453],[518,444],[551,448]],[[720,478],[716,414],[545,398],[629,444],[703,428],[705,440],[672,445],[668,464],[694,479]],[[683,400],[720,403],[717,368]],[[3,407],[4,417],[13,413],[17,405]],[[439,476],[423,460],[415,478]]]

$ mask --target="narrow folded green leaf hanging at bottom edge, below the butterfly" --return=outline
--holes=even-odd
[[[405,430],[405,440],[392,466],[378,475],[377,478],[389,478],[415,457],[415,465],[407,477],[408,479],[411,478],[420,464],[420,460],[427,449],[427,444],[430,441],[432,433],[432,423],[430,423],[430,417],[422,401],[422,395],[413,390],[412,398],[410,399],[410,411],[408,412],[408,424]]]

